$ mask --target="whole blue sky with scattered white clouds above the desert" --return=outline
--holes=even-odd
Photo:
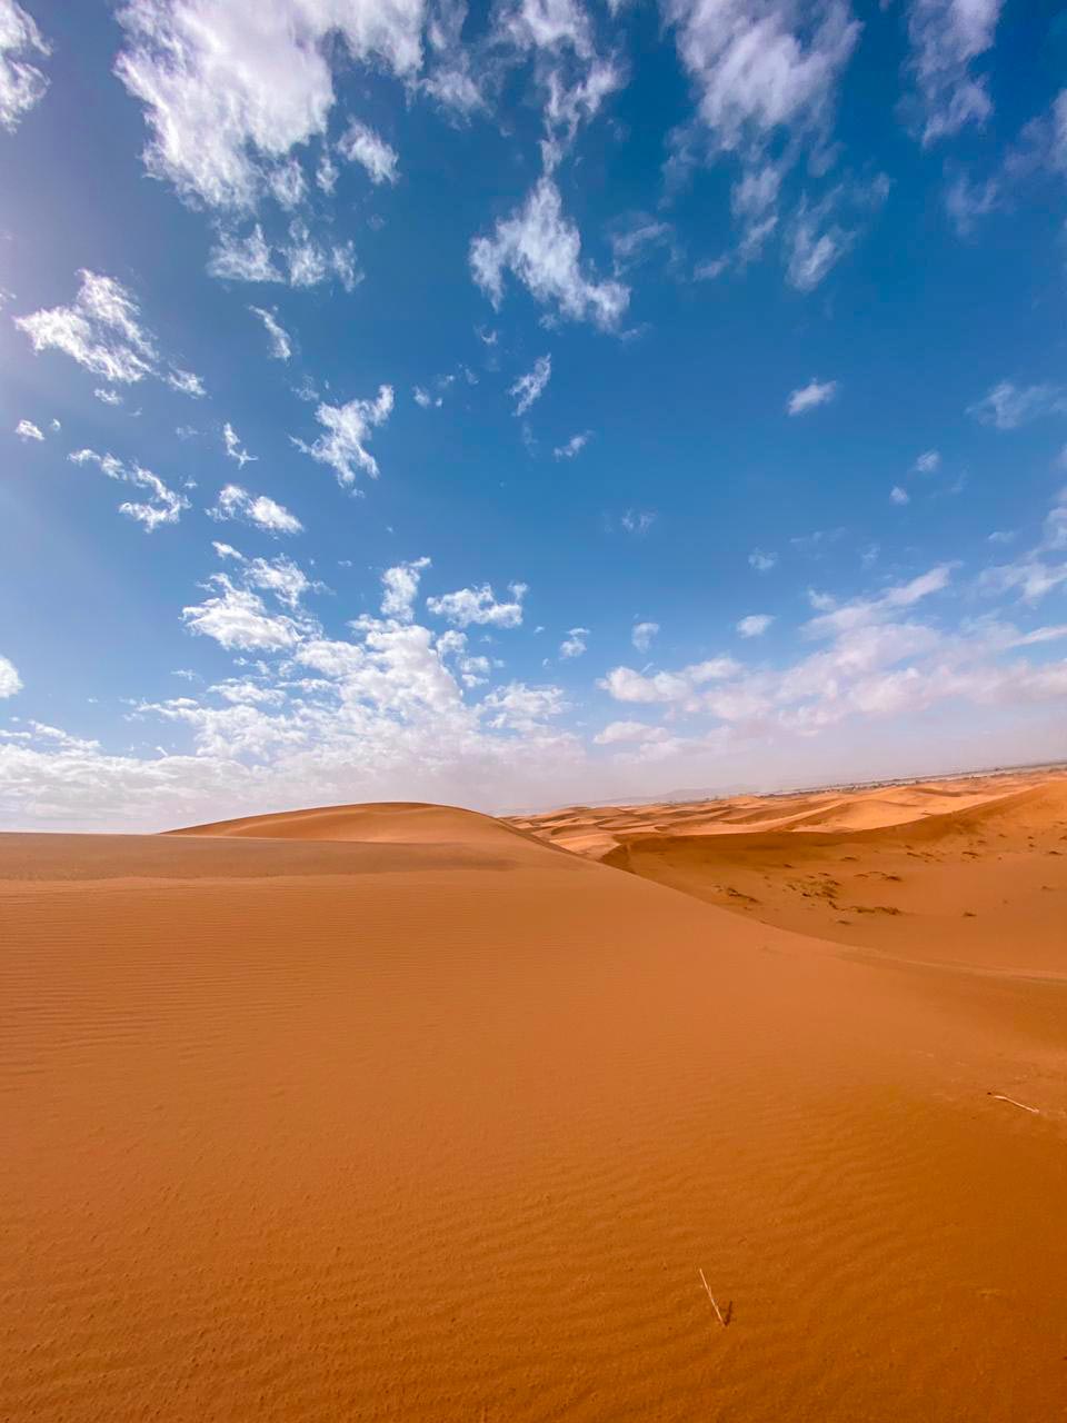
[[[1067,754],[1067,10],[0,0],[0,824]]]

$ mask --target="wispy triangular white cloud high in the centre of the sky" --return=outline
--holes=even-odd
[[[499,307],[504,275],[511,270],[543,306],[555,305],[570,320],[617,326],[630,292],[620,282],[596,282],[582,269],[582,239],[562,212],[559,189],[542,176],[525,205],[501,219],[491,238],[471,243],[471,272]]]

